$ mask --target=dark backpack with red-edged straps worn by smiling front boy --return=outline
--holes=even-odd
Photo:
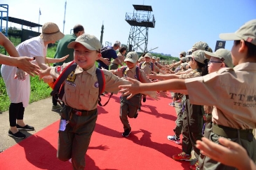
[[[76,66],[77,66],[77,64],[73,61],[62,71],[62,73],[57,78],[57,80],[55,80],[55,83],[53,84],[53,91],[50,92],[50,95],[53,96],[54,94],[58,94],[59,99],[62,100],[62,97],[65,93],[64,81],[67,79],[69,74],[72,73],[72,71],[74,71],[76,69]],[[104,90],[105,90],[104,71],[96,68],[96,75],[97,75],[97,80],[99,83],[99,96],[98,96],[97,104],[99,104],[100,106],[106,106],[109,103],[109,99],[110,99],[110,97],[112,97],[113,93],[110,94],[108,101],[104,105],[102,105],[100,103],[100,101],[101,101],[100,94],[102,94],[102,92],[104,92]]]

